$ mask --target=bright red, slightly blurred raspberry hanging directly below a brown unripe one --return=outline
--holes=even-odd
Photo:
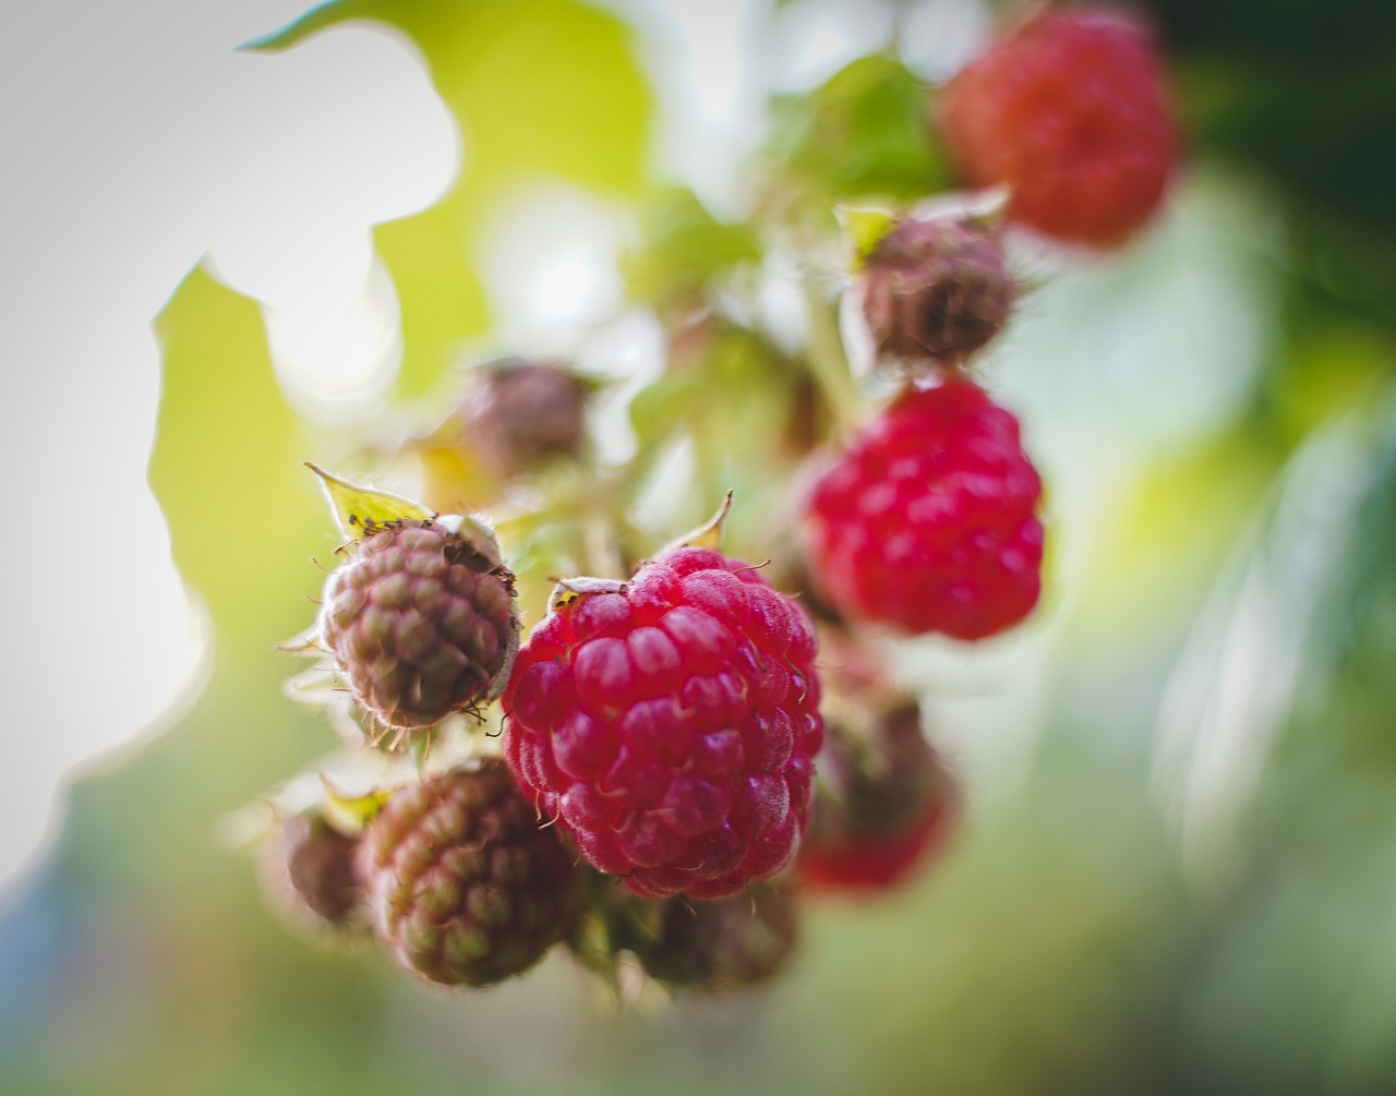
[[[980,388],[909,390],[815,482],[811,570],[849,616],[981,639],[1037,603],[1040,496],[1018,420]]]

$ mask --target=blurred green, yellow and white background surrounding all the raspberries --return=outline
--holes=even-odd
[[[363,445],[490,353],[567,353],[617,413],[662,357],[637,269],[743,258],[718,226],[761,148],[831,197],[944,187],[892,77],[847,155],[800,127],[867,54],[944,80],[994,13],[7,14],[0,1090],[1396,1090],[1396,8],[1148,10],[1187,134],[1170,207],[1108,257],[1025,244],[1037,288],[983,367],[1048,483],[1044,603],[895,649],[966,789],[956,839],[902,894],[808,909],[769,988],[621,1014],[563,956],[441,994],[317,945],[229,847],[332,744],[274,651],[334,549],[302,462],[391,475]],[[701,230],[623,262],[656,201]],[[768,267],[752,325],[796,352]],[[734,360],[740,423],[765,390]],[[644,444],[602,422],[607,459]],[[674,461],[747,451],[702,422]],[[761,469],[719,472],[761,498]]]

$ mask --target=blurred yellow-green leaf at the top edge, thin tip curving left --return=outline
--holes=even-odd
[[[461,177],[436,207],[376,230],[402,310],[398,391],[420,397],[489,329],[476,250],[500,204],[540,179],[638,191],[651,92],[630,28],[572,0],[335,0],[247,49],[289,49],[350,20],[416,43],[465,145]]]

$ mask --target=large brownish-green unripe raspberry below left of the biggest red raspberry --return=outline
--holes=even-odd
[[[500,761],[395,793],[364,831],[359,874],[394,959],[444,986],[526,970],[577,916],[572,856]]]

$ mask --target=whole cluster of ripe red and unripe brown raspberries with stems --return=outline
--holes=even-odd
[[[842,302],[818,299],[808,264],[824,313],[797,353],[733,302],[754,242],[807,229],[801,201],[828,225],[818,191],[778,170],[789,193],[752,223],[695,200],[656,218],[632,290],[670,360],[628,409],[625,466],[589,444],[602,385],[510,357],[468,370],[434,427],[373,450],[426,501],[314,469],[343,543],[292,646],[315,659],[295,694],[332,716],[341,758],[374,765],[353,790],[275,797],[282,909],[438,984],[487,986],[563,945],[611,986],[630,963],[715,991],[783,969],[807,899],[902,887],[944,845],[960,789],[886,644],[984,641],[1039,602],[1041,479],[977,374],[1020,296],[1005,239],[1120,243],[1175,142],[1148,39],[1094,13],[1029,20],[919,103],[965,180],[1005,200],[864,216]],[[676,441],[694,454],[681,482]],[[712,500],[723,480],[754,510],[729,512],[729,491],[656,549],[674,531],[645,528],[645,500]],[[494,524],[441,512],[484,510]]]

